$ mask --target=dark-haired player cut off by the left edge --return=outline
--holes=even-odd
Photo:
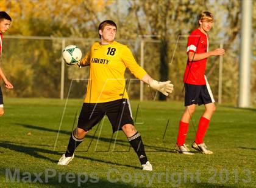
[[[10,26],[10,23],[12,21],[12,18],[6,13],[6,12],[0,12],[0,61],[2,56],[2,33],[5,33]],[[4,81],[5,87],[7,89],[12,89],[12,84],[8,81],[8,79],[5,77],[4,72],[2,72],[2,69],[0,67],[0,80]],[[4,115],[4,101],[2,97],[2,90],[0,87],[0,116]]]

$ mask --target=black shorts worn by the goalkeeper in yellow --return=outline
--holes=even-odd
[[[101,121],[104,115],[107,115],[112,124],[113,133],[117,130],[122,130],[121,128],[125,124],[134,124],[129,100],[118,99],[102,103],[84,103],[77,127],[85,131],[90,130]]]

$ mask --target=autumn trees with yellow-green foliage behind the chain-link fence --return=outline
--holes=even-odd
[[[253,3],[256,8],[255,2]],[[57,0],[1,0],[0,9],[12,16],[12,27],[7,35],[52,36],[67,38],[98,38],[98,24],[112,19],[118,24],[117,41],[124,41],[140,62],[140,41],[144,39],[144,68],[154,78],[170,79],[176,90],[168,99],[183,98],[182,77],[187,62],[187,36],[197,27],[197,15],[207,10],[215,16],[210,31],[210,50],[222,42],[226,55],[223,64],[222,101],[236,103],[238,93],[238,63],[240,53],[241,2],[230,1],[57,1]],[[255,12],[253,29],[255,30]],[[255,32],[254,32],[255,33]],[[179,42],[177,43],[177,39]],[[157,42],[150,42],[157,41]],[[91,41],[93,42],[93,41]],[[76,43],[76,42],[74,42]],[[78,42],[84,52],[90,42]],[[252,103],[256,104],[255,41],[252,42]],[[10,96],[59,97],[60,90],[60,41],[4,39],[2,67],[16,85]],[[175,53],[174,53],[175,50]],[[213,94],[218,96],[218,57],[209,58],[207,76]],[[88,70],[68,67],[65,84],[71,78],[85,78]],[[126,73],[127,78],[133,78]],[[77,88],[84,83],[77,82]],[[136,85],[136,84],[135,84]],[[131,85],[131,95],[138,96]],[[68,88],[65,87],[67,95]],[[134,87],[134,90],[133,90]],[[81,89],[80,89],[81,90]],[[232,91],[232,92],[230,92]],[[76,92],[74,92],[76,93]],[[76,93],[74,97],[84,95]],[[152,98],[145,94],[145,98]],[[160,95],[159,99],[165,100]]]

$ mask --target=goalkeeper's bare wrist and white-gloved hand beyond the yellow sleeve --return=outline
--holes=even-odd
[[[155,90],[158,90],[159,92],[163,93],[163,95],[168,96],[169,93],[172,93],[173,91],[173,84],[171,84],[171,81],[165,81],[165,82],[158,82],[155,79],[151,78],[151,76],[148,75],[148,73],[141,78],[141,81],[145,82],[149,85],[149,87],[152,87]]]

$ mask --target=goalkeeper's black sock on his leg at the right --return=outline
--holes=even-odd
[[[142,142],[140,133],[135,133],[135,135],[130,136],[128,138],[130,146],[133,147],[135,152],[138,155],[138,158],[140,159],[141,164],[146,164],[148,161],[148,158],[146,156],[145,150],[144,150],[144,144]]]

